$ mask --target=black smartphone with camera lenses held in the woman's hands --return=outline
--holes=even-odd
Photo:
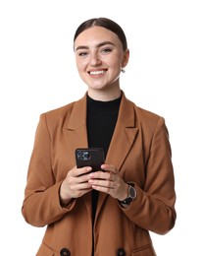
[[[104,163],[104,151],[102,148],[76,149],[76,167],[91,166],[92,171],[101,169]]]

